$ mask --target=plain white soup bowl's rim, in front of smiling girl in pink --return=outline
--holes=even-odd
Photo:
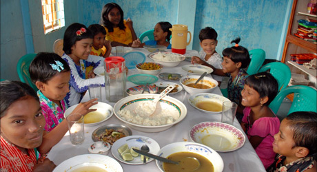
[[[199,102],[212,102],[212,103],[217,103],[219,106],[221,106],[221,109],[219,109],[220,111],[207,111],[204,109],[201,109],[199,107],[197,107],[197,103]],[[222,107],[223,107],[223,102],[227,102],[230,100],[224,96],[218,95],[218,94],[212,94],[212,93],[199,93],[199,94],[194,94],[192,96],[190,96],[190,98],[188,98],[188,102],[190,103],[190,105],[192,105],[192,107],[203,111],[207,114],[218,114],[221,113],[222,111]]]

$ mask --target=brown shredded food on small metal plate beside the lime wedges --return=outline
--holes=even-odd
[[[99,136],[95,137],[99,138],[99,140],[103,142],[108,142],[112,145],[114,144],[114,142],[116,142],[116,140],[125,137],[125,134],[123,133],[123,129],[105,129],[104,133],[101,133]]]

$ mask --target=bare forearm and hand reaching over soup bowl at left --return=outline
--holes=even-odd
[[[88,102],[79,103],[79,105],[74,109],[74,111],[72,111],[72,113],[85,115],[91,111],[96,111],[96,109],[89,109],[90,107],[92,107],[92,105],[97,104],[97,102],[94,102],[96,100],[97,98],[94,98],[92,100],[89,100]],[[48,153],[48,151],[50,151],[50,149],[52,149],[52,147],[54,147],[54,145],[63,138],[67,131],[68,123],[67,120],[64,119],[49,133],[44,132],[42,144],[37,148],[39,153],[41,153],[41,155],[45,155],[46,153]]]

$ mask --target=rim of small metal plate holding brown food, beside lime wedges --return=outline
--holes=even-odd
[[[102,133],[105,133],[105,129],[121,129],[122,132],[125,134],[126,136],[131,136],[132,135],[132,131],[129,127],[126,127],[125,125],[103,125],[101,127],[99,127],[98,129],[95,129],[94,132],[92,132],[92,140],[94,140],[94,142],[97,141],[103,141],[99,139],[99,135],[101,135]]]

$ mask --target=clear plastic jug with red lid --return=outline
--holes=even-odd
[[[105,58],[105,98],[116,103],[126,96],[125,59],[120,56]]]

